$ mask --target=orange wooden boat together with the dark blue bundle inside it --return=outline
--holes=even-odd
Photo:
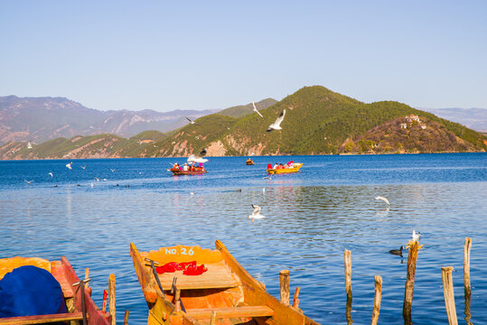
[[[22,266],[35,266],[35,267],[22,267]],[[21,268],[22,267],[22,268]],[[49,272],[47,274],[45,271]],[[18,275],[23,274],[23,275]],[[25,274],[39,274],[39,277],[29,278],[32,283],[22,282],[20,279],[23,279]],[[50,275],[52,274],[52,276]],[[57,286],[57,281],[61,286],[61,296],[57,296],[57,300],[55,302],[60,302],[60,309],[58,313],[48,313],[48,314],[38,314],[38,315],[28,315],[28,316],[15,316],[15,317],[3,317],[0,318],[0,324],[41,324],[41,323],[51,323],[51,322],[71,322],[71,324],[82,324],[86,321],[89,325],[108,325],[109,317],[108,313],[100,311],[91,299],[91,288],[88,286],[89,279],[85,279],[80,282],[78,276],[74,273],[70,262],[64,256],[61,257],[61,261],[48,261],[46,259],[38,258],[38,257],[10,257],[10,258],[2,258],[0,259],[0,280],[5,279],[3,283],[5,288],[7,289],[14,289],[14,291],[7,292],[5,289],[2,294],[5,294],[3,297],[12,297],[12,294],[15,296],[18,295],[28,295],[31,294],[32,297],[33,293],[36,293],[35,290],[25,290],[25,287],[41,287],[42,282],[45,280],[46,282],[52,281],[54,283],[57,290],[59,286]],[[14,279],[14,280],[13,280]],[[55,280],[54,280],[55,279]],[[6,284],[8,283],[8,284]],[[17,286],[14,288],[11,287],[12,283],[17,283],[18,285],[24,285],[23,289],[19,289],[17,292]],[[50,283],[50,285],[52,285]],[[35,284],[35,285],[33,285]],[[0,281],[0,288],[2,287],[2,282]],[[51,287],[49,288],[51,289]],[[0,290],[1,291],[1,290]],[[25,306],[22,307],[22,312],[30,312],[33,310],[42,309],[46,306],[45,301],[51,302],[50,299],[46,299],[43,295],[45,291],[42,291],[41,297],[38,299],[42,303],[40,303],[41,307],[39,306]],[[10,296],[9,296],[10,294]],[[45,293],[46,295],[48,293]],[[52,296],[50,296],[52,297]],[[33,302],[32,298],[25,298],[28,302]],[[59,300],[59,301],[58,301]],[[6,314],[18,314],[21,311],[18,311],[19,307],[18,299],[9,299],[11,304],[6,306],[2,303],[0,306],[0,311],[2,311],[2,315]],[[63,305],[64,304],[64,305]],[[9,310],[8,307],[12,307],[13,309]],[[26,308],[29,307],[29,308]],[[32,307],[32,308],[31,308]],[[28,310],[28,311],[25,311]]]

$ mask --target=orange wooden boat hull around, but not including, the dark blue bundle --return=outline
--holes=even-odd
[[[89,325],[108,325],[108,313],[100,311],[91,299],[91,288],[88,283],[80,282],[78,276],[74,273],[70,262],[64,256],[61,261],[48,261],[38,257],[10,257],[0,259],[0,279],[5,274],[10,273],[14,268],[33,265],[49,271],[54,278],[61,284],[64,302],[66,303],[67,313],[21,316],[0,318],[0,324],[17,325],[17,324],[41,324],[60,321],[75,321],[71,324],[83,323],[83,319]],[[83,287],[83,288],[80,288]],[[81,299],[84,296],[84,303]]]

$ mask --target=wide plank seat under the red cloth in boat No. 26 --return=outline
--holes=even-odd
[[[200,275],[184,275],[183,271],[159,274],[159,280],[164,291],[171,290],[173,277],[177,276],[176,286],[181,290],[192,289],[225,289],[239,286],[239,282],[233,277],[223,262],[205,265],[208,268]]]

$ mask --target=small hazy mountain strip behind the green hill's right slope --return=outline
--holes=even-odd
[[[486,108],[421,108],[450,121],[460,123],[478,132],[487,132]]]

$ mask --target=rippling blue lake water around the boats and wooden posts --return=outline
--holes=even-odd
[[[441,267],[450,265],[456,312],[465,323],[464,237],[473,238],[472,321],[487,323],[486,158],[253,157],[254,166],[245,165],[247,157],[210,158],[208,174],[179,177],[166,169],[182,159],[74,160],[72,171],[65,167],[69,161],[0,162],[0,257],[67,256],[77,274],[89,267],[98,306],[113,273],[118,322],[129,310],[130,323],[143,324],[147,307],[129,243],[141,250],[213,248],[220,239],[268,292],[279,296],[278,274],[288,269],[291,292],[301,287],[306,315],[345,324],[343,250],[349,249],[352,320],[370,322],[378,274],[379,322],[401,324],[407,254],[390,255],[389,249],[405,245],[415,229],[424,249],[417,257],[414,323],[447,323]],[[302,172],[263,179],[267,163],[289,160],[304,163]],[[388,198],[389,209],[374,199],[378,195]],[[250,222],[251,204],[266,218]]]

